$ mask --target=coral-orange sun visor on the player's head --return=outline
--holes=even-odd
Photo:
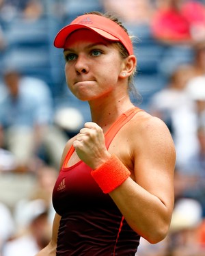
[[[121,42],[129,55],[133,55],[133,44],[131,38],[126,34],[126,31],[109,18],[96,14],[79,16],[74,19],[70,25],[63,27],[55,36],[54,46],[57,48],[65,48],[66,38],[68,38],[73,31],[85,28],[96,31],[96,33],[107,40]]]

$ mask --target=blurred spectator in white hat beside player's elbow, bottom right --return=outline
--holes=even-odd
[[[204,255],[198,230],[202,224],[202,205],[195,199],[176,202],[169,233],[169,253],[174,256]]]

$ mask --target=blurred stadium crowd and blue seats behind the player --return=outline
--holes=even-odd
[[[136,256],[205,255],[205,1],[0,0],[0,256],[33,256],[49,241],[64,145],[89,120],[66,88],[55,32],[75,16],[113,12],[137,55],[133,98],[176,145],[169,235]]]

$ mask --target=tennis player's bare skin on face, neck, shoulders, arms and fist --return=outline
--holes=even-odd
[[[68,141],[61,165],[72,144],[75,152],[68,166],[81,159],[96,169],[115,153],[131,177],[109,195],[133,230],[151,243],[160,242],[167,235],[174,207],[176,153],[169,130],[159,118],[139,112],[120,129],[109,149],[105,147],[104,133],[134,107],[127,87],[136,57],[123,60],[113,44],[86,29],[70,35],[64,55],[69,88],[78,99],[88,101],[92,122]],[[55,255],[59,220],[56,214],[53,238],[38,256]]]

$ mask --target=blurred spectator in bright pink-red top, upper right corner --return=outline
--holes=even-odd
[[[198,1],[165,0],[152,19],[154,38],[169,44],[193,43],[205,38],[205,8]]]

